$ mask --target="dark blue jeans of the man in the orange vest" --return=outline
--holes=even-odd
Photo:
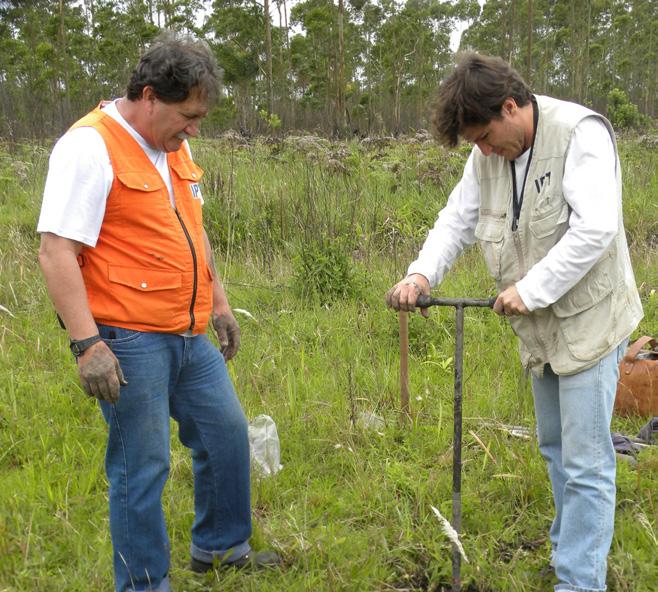
[[[168,592],[161,498],[169,474],[169,417],[192,452],[191,552],[209,562],[250,550],[247,420],[224,358],[205,335],[99,330],[128,381],[116,405],[101,402],[109,432],[105,468],[116,590]]]

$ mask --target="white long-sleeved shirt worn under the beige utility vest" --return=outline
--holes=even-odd
[[[475,146],[460,182],[439,213],[434,227],[408,273],[424,275],[432,286],[441,283],[462,250],[475,242],[480,186],[473,166]],[[516,159],[521,188],[526,151]],[[569,228],[546,256],[516,283],[528,310],[545,308],[560,299],[591,269],[617,234],[619,204],[616,156],[610,134],[596,117],[574,129],[564,163],[562,189],[571,208]]]

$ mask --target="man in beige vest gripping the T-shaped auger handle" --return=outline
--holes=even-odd
[[[613,130],[585,107],[533,95],[506,62],[475,53],[441,84],[433,123],[442,144],[462,136],[473,151],[386,301],[415,310],[464,247],[480,244],[498,289],[494,311],[509,319],[532,372],[555,502],[555,590],[601,592],[614,528],[617,368],[642,318]]]

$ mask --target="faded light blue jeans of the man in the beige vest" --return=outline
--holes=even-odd
[[[547,364],[532,377],[539,450],[548,464],[555,519],[550,529],[555,590],[601,592],[615,519],[615,450],[610,421],[626,341],[578,374]]]

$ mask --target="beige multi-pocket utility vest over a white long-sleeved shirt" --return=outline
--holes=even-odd
[[[500,291],[522,279],[569,228],[569,205],[562,192],[564,162],[576,125],[597,117],[616,142],[610,123],[598,113],[537,96],[539,121],[523,194],[518,228],[512,231],[512,177],[509,161],[475,155],[480,214],[475,236]],[[619,232],[587,274],[557,302],[527,316],[510,317],[520,339],[526,369],[574,374],[593,366],[628,337],[642,318],[624,234],[621,169],[616,157]],[[518,188],[521,191],[521,188]]]

